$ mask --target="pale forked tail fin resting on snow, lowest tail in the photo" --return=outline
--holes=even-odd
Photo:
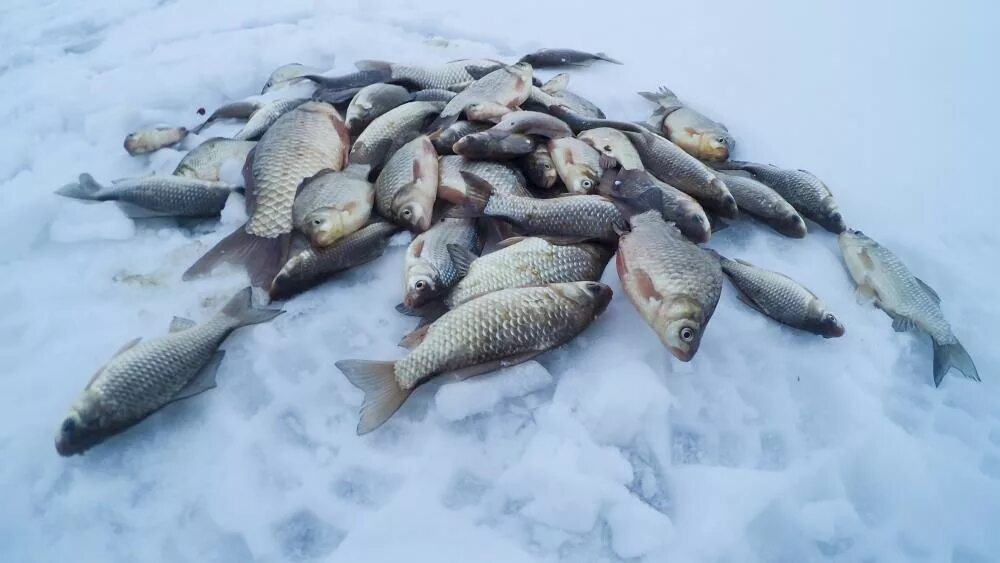
[[[359,436],[385,424],[410,396],[410,391],[396,382],[396,362],[341,360],[335,365],[365,394],[358,421]]]

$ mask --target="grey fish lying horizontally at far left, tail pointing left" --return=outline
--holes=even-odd
[[[90,174],[66,184],[56,194],[84,201],[113,201],[133,219],[217,217],[233,186],[168,174],[116,180],[102,186]]]

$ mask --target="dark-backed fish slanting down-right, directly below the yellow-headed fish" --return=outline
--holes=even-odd
[[[642,164],[662,182],[700,201],[710,211],[735,219],[739,215],[736,199],[711,168],[659,135],[626,131]]]

